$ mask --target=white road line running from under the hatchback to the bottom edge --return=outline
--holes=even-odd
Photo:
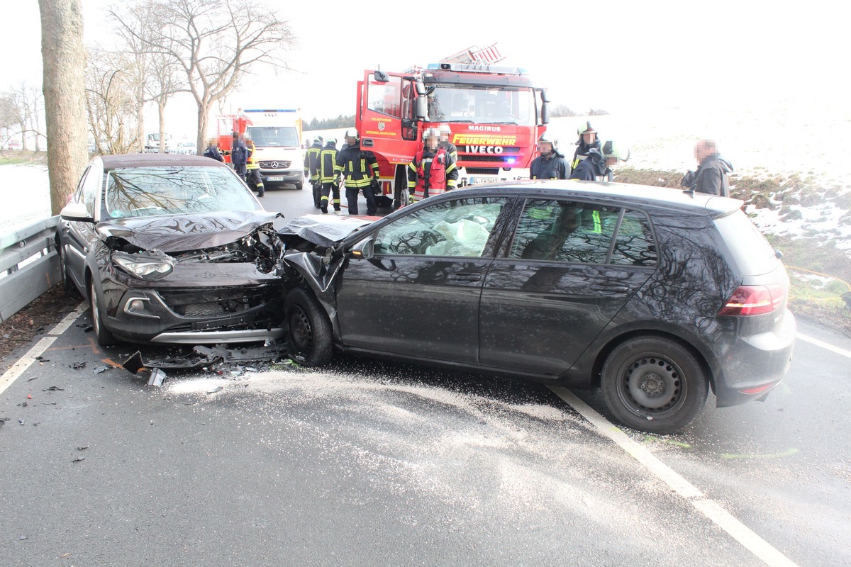
[[[578,411],[582,417],[585,417],[597,430],[614,441],[628,455],[632,456],[637,462],[643,464],[651,473],[665,482],[671,487],[671,490],[683,496],[691,505],[694,506],[706,518],[710,519],[719,528],[726,531],[734,540],[739,541],[748,551],[762,559],[765,564],[776,565],[783,567],[797,567],[790,558],[787,558],[783,553],[775,549],[768,541],[757,536],[745,524],[742,524],[738,519],[735,519],[733,514],[725,510],[720,504],[707,498],[694,485],[683,479],[682,476],[673,471],[659,458],[654,456],[643,445],[639,445],[636,441],[617,428],[614,423],[609,422],[605,417],[601,416],[597,411],[585,404],[584,401],[577,398],[573,392],[565,388],[551,386],[550,389],[559,398],[564,400],[568,405]]]

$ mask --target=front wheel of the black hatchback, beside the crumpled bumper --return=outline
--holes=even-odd
[[[311,292],[295,288],[283,303],[289,358],[304,366],[325,366],[332,355],[331,323]]]

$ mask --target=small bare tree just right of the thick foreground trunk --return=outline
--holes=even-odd
[[[134,71],[126,54],[89,48],[86,116],[99,154],[127,153],[137,144]]]

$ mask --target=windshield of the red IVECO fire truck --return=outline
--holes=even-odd
[[[428,99],[431,122],[534,126],[537,117],[531,88],[438,83]]]

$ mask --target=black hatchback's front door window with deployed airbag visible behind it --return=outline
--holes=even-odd
[[[507,202],[501,197],[478,197],[422,208],[382,227],[375,238],[375,253],[481,257]]]

